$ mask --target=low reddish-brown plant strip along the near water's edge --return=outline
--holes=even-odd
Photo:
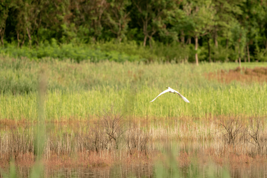
[[[76,157],[68,157],[67,155],[62,155],[60,157],[57,154],[53,154],[51,158],[47,160],[41,160],[46,169],[56,170],[62,167],[109,167],[113,165],[123,165],[123,166],[135,166],[135,165],[154,165],[156,161],[162,161],[164,164],[168,164],[170,159],[170,154],[162,154],[160,152],[154,151],[150,156],[142,154],[138,151],[135,154],[129,154],[124,158],[114,158],[114,155],[109,156],[99,156],[96,153],[90,152],[88,155],[78,153]],[[24,155],[21,159],[17,159],[15,164],[19,167],[32,167],[36,161],[32,159],[33,155]],[[28,158],[28,159],[27,159]],[[171,158],[172,159],[172,158]],[[248,155],[237,155],[235,153],[224,154],[216,156],[212,154],[212,148],[202,153],[187,153],[185,151],[180,151],[179,156],[174,157],[178,166],[183,168],[189,166],[192,162],[198,164],[206,164],[208,162],[214,162],[218,165],[229,165],[230,167],[240,166],[240,165],[250,165],[250,164],[263,164],[266,163],[267,158],[256,155],[253,158]],[[9,161],[0,162],[0,167],[2,169],[9,167]]]

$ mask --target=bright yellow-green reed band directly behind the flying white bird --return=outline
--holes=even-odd
[[[184,95],[190,103],[178,95],[167,93],[151,101],[164,87],[128,86],[126,88],[102,86],[88,91],[47,91],[44,110],[46,121],[64,121],[71,118],[86,120],[100,107],[116,103],[132,116],[143,117],[192,117],[203,118],[207,114],[226,115],[242,113],[267,115],[267,84],[242,86],[232,83],[226,86],[182,87],[170,85]],[[134,87],[134,89],[133,89]],[[133,91],[134,90],[134,91]],[[37,92],[26,95],[0,94],[0,118],[35,121],[38,118]]]

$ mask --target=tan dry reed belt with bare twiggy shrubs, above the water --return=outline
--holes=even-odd
[[[123,162],[125,158],[129,162],[149,161],[155,155],[160,158],[166,149],[180,158],[195,153],[213,156],[215,160],[233,155],[241,159],[241,163],[258,156],[267,158],[266,122],[259,117],[249,121],[229,115],[217,117],[209,124],[188,121],[172,126],[158,124],[147,129],[140,129],[134,121],[125,122],[122,117],[117,111],[103,111],[94,124],[62,126],[57,130],[46,128],[42,158],[55,165],[67,162],[103,166]],[[33,127],[10,126],[0,132],[2,165],[10,160],[24,164],[34,162],[38,137]],[[246,159],[242,160],[244,157]],[[190,159],[183,161],[190,162]]]

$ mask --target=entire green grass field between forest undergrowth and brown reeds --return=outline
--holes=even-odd
[[[245,63],[245,67],[266,63]],[[114,103],[137,117],[205,117],[206,114],[267,115],[267,84],[221,84],[209,81],[204,72],[234,69],[235,63],[158,64],[103,61],[30,61],[0,57],[0,119],[38,118],[37,90],[46,79],[45,119],[86,120],[100,108]],[[179,95],[166,93],[166,87]]]

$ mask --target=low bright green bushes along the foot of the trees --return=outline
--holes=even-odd
[[[0,47],[0,53],[9,57],[27,57],[32,60],[42,60],[43,58],[66,60],[74,62],[88,60],[99,62],[104,60],[125,62],[125,61],[157,61],[157,62],[181,62],[194,61],[194,46],[192,44],[181,46],[179,43],[153,43],[152,49],[149,46],[142,46],[135,41],[118,43],[116,40],[110,42],[96,42],[90,44],[80,44],[71,42],[68,44],[58,44],[55,39],[51,42],[44,41],[38,46],[22,46],[17,48],[16,44],[7,44]],[[203,57],[203,60],[205,56]]]

